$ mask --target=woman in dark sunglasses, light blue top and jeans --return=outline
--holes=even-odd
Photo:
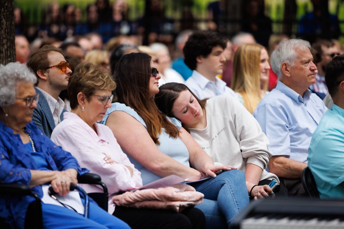
[[[124,55],[114,72],[120,103],[112,104],[102,123],[141,172],[143,184],[171,174],[189,181],[214,177],[192,184],[205,195],[195,207],[204,212],[206,228],[227,228],[248,204],[245,174],[234,167],[215,166],[176,119],[159,112],[154,95],[159,92],[160,75],[149,55]],[[231,171],[216,176],[219,170]]]

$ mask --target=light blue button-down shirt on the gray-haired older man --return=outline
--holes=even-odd
[[[327,111],[323,101],[307,89],[303,98],[278,81],[258,104],[253,116],[269,139],[273,156],[307,163],[308,147],[314,130]]]

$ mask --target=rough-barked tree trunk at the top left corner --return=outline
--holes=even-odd
[[[14,0],[0,0],[0,63],[15,62]]]

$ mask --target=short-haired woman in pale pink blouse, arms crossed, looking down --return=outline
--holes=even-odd
[[[110,194],[108,212],[130,227],[202,228],[204,215],[196,208],[187,208],[182,213],[119,206],[115,209],[114,195],[142,186],[141,173],[122,152],[112,131],[97,123],[111,107],[111,91],[115,87],[108,73],[92,63],[79,64],[67,88],[72,112],[64,113],[64,120],[54,129],[51,140],[69,151],[82,167],[101,176]],[[95,185],[83,188],[86,192],[101,192]]]

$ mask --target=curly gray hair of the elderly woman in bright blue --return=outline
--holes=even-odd
[[[36,75],[25,64],[19,62],[0,64],[0,107],[14,104],[17,83],[35,84],[36,81]]]

